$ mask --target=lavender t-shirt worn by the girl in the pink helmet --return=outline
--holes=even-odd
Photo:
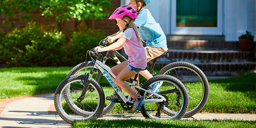
[[[145,69],[147,67],[145,48],[140,45],[134,29],[126,29],[122,37],[127,39],[123,47],[125,54],[128,55],[128,64],[135,68]]]

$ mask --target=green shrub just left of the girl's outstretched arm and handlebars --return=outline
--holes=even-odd
[[[71,35],[67,45],[67,56],[70,66],[77,65],[85,61],[86,52],[99,45],[99,41],[106,38],[100,29],[90,29],[82,24]]]

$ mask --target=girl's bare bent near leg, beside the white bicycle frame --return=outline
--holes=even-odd
[[[134,92],[134,90],[131,89],[128,83],[125,82],[125,80],[131,78],[134,76],[135,73],[132,72],[128,67],[125,67],[117,76],[116,79],[114,79],[114,82],[116,85],[121,87],[125,92],[127,92],[133,99],[136,99],[138,94]]]

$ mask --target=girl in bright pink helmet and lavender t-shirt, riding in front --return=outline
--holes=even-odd
[[[135,93],[125,80],[131,78],[147,67],[145,49],[142,46],[140,35],[133,22],[135,17],[137,17],[137,12],[132,6],[125,5],[117,8],[109,19],[116,19],[116,25],[123,32],[121,38],[108,47],[99,46],[95,48],[95,51],[100,49],[101,52],[104,52],[109,50],[119,50],[124,47],[125,54],[128,55],[128,60],[112,67],[111,72],[117,75],[116,79],[114,79],[116,86],[119,87],[120,90],[125,90],[134,99],[134,105],[131,110],[132,113],[138,109],[140,102],[143,100],[143,96]],[[112,96],[106,97],[106,99],[114,100],[119,98],[115,93]]]

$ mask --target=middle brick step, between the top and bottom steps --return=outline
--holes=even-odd
[[[158,62],[187,61],[192,63],[236,63],[255,61],[252,51],[195,51],[195,50],[168,50],[169,57],[163,56],[157,59]]]

